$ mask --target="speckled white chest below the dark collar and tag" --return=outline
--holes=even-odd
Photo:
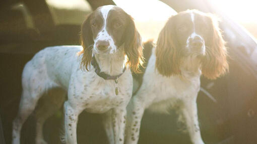
[[[103,113],[111,108],[126,105],[132,95],[132,82],[120,77],[118,82],[104,80],[97,75],[82,82],[76,96],[87,112]]]

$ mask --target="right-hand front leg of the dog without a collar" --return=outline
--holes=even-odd
[[[185,118],[186,127],[189,132],[190,139],[194,144],[204,144],[201,137],[198,113],[197,113],[197,95],[194,97],[186,97],[183,99],[182,113]]]

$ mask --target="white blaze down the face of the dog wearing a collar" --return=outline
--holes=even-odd
[[[110,53],[114,53],[115,50],[117,49],[115,44],[114,44],[114,41],[112,39],[112,37],[108,34],[107,30],[106,30],[106,24],[107,24],[107,17],[108,17],[108,14],[110,12],[110,10],[113,8],[114,6],[112,5],[107,5],[107,6],[103,6],[101,9],[100,9],[100,12],[103,16],[103,27],[101,29],[101,31],[98,33],[96,39],[94,40],[95,43],[94,43],[94,50],[95,52],[98,52],[97,49],[96,49],[96,42],[98,40],[105,40],[105,41],[108,41],[110,46],[108,47],[111,48],[110,49]]]

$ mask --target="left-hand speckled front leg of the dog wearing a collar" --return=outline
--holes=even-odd
[[[77,144],[77,123],[82,108],[72,106],[69,101],[64,104],[65,110],[65,141],[67,144]]]

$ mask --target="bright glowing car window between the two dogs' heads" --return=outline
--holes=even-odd
[[[143,41],[149,39],[156,41],[168,18],[177,14],[158,0],[114,0],[113,2],[134,18]]]

